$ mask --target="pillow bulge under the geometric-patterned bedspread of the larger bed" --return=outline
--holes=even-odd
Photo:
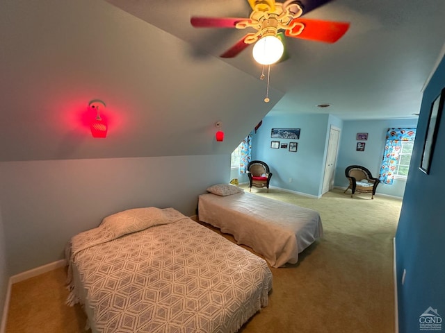
[[[154,225],[170,223],[163,210],[156,207],[133,208],[106,216],[100,226],[113,232],[115,237],[147,229]]]

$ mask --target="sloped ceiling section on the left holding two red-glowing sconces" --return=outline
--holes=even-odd
[[[102,0],[1,1],[0,15],[0,161],[229,154],[283,95],[264,103],[264,82]]]

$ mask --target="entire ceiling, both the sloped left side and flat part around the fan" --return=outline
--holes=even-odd
[[[264,103],[250,49],[218,57],[245,31],[190,24],[249,12],[245,0],[1,1],[0,161],[230,153],[268,112],[413,117],[445,41],[442,0],[331,1],[305,17],[349,31],[286,40]],[[107,105],[106,139],[89,134],[92,99]]]

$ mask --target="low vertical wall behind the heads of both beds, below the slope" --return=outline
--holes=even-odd
[[[2,162],[1,257],[8,257],[10,275],[62,259],[74,234],[133,207],[174,207],[191,216],[197,196],[229,182],[229,170],[230,155]]]

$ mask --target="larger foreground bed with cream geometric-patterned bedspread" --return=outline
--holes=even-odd
[[[66,248],[69,305],[93,333],[236,332],[268,305],[261,257],[173,208],[106,217]]]

